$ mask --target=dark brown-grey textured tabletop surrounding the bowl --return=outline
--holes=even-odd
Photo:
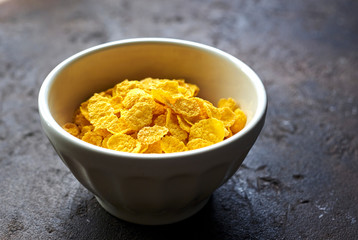
[[[358,239],[358,2],[0,0],[0,239]],[[171,37],[249,64],[269,99],[241,168],[195,216],[140,226],[105,212],[41,131],[59,62]]]

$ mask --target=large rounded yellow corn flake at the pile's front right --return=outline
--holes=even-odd
[[[225,126],[216,118],[203,119],[195,123],[189,133],[189,141],[194,138],[202,138],[217,143],[225,137]]]

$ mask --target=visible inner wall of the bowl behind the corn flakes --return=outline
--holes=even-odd
[[[104,45],[64,61],[52,75],[47,98],[59,125],[71,121],[79,104],[125,79],[182,78],[197,84],[199,96],[214,104],[234,98],[250,122],[260,101],[258,77],[245,64],[214,48],[177,42]],[[259,80],[258,80],[259,81]]]

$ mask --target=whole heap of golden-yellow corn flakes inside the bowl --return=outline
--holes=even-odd
[[[246,115],[232,98],[215,107],[198,92],[184,80],[124,80],[83,102],[63,128],[112,150],[173,153],[223,141],[245,126]]]

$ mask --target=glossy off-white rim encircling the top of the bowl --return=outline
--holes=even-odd
[[[111,150],[103,147],[99,147],[90,143],[87,143],[81,139],[78,139],[75,136],[72,136],[66,130],[64,130],[54,119],[52,116],[49,106],[48,106],[48,99],[49,99],[49,91],[56,79],[56,77],[63,71],[67,66],[71,65],[72,63],[76,62],[77,60],[86,57],[87,55],[95,54],[98,51],[108,50],[111,48],[122,47],[126,45],[133,45],[133,44],[172,44],[172,45],[179,45],[189,48],[196,48],[199,50],[206,51],[210,54],[214,54],[220,57],[223,57],[232,63],[234,63],[241,71],[248,76],[248,78],[253,83],[257,95],[258,95],[258,102],[257,102],[257,111],[253,115],[251,121],[245,125],[245,127],[232,137],[225,139],[224,141],[215,143],[213,145],[199,148],[195,150],[185,151],[185,152],[176,152],[176,153],[151,153],[151,154],[143,154],[143,153],[128,153],[128,152],[120,152],[116,150]],[[181,39],[173,39],[173,38],[129,38],[117,41],[111,41],[107,43],[103,43],[100,45],[96,45],[85,50],[82,50],[67,59],[63,60],[59,63],[45,78],[43,81],[39,95],[38,95],[38,108],[39,114],[41,117],[41,123],[47,125],[48,128],[54,129],[62,139],[74,144],[80,148],[86,148],[90,151],[99,152],[105,155],[110,155],[113,157],[124,157],[130,159],[168,159],[168,158],[178,158],[178,157],[186,157],[192,156],[197,154],[202,154],[204,152],[211,152],[218,148],[222,148],[225,145],[235,142],[239,138],[242,138],[244,135],[251,132],[255,126],[259,123],[259,121],[265,116],[266,109],[267,109],[267,95],[265,91],[265,87],[259,78],[259,76],[244,62],[239,60],[238,58],[232,56],[231,54],[224,52],[218,48],[211,47],[202,43],[188,41],[188,40],[181,40]]]

